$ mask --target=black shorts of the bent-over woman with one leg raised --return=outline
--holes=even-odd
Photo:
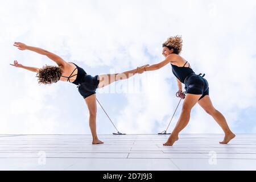
[[[92,96],[92,94],[96,93],[99,82],[100,79],[98,78],[98,75],[94,77],[85,75],[84,78],[82,78],[82,81],[79,83],[79,86],[77,86],[79,93],[84,98]]]

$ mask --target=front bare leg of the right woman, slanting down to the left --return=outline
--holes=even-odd
[[[178,135],[180,131],[183,130],[184,127],[188,125],[192,107],[195,106],[196,102],[199,100],[201,96],[202,95],[186,94],[180,118],[177,121],[174,131],[172,131],[167,142],[163,144],[164,146],[172,146],[174,142],[176,142],[179,139]]]

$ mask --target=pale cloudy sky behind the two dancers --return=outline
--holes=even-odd
[[[256,133],[255,1],[3,1],[0,0],[0,134],[90,134],[88,110],[67,82],[38,85],[42,55],[14,42],[42,47],[75,61],[90,75],[116,73],[163,60],[162,43],[182,35],[183,56],[205,73],[210,97],[234,133]],[[97,98],[119,131],[159,133],[179,99],[171,66],[99,89]],[[181,105],[171,123],[174,128]],[[98,106],[97,131],[115,132]],[[199,105],[182,133],[222,133]]]

